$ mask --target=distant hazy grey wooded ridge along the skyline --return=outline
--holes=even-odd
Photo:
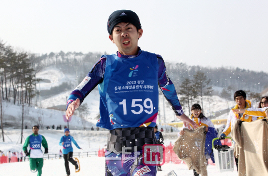
[[[106,54],[106,53],[104,53]],[[42,67],[56,67],[66,74],[76,74],[83,80],[94,64],[100,59],[101,54],[89,52],[63,52],[42,54],[39,56]],[[268,87],[268,73],[240,69],[239,67],[201,67],[190,66],[185,63],[165,62],[167,73],[172,82],[179,88],[185,78],[193,79],[197,71],[205,73],[210,80],[211,87],[228,88],[234,90],[244,89],[252,92],[261,92]]]

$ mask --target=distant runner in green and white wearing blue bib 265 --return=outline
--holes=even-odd
[[[26,156],[30,157],[30,169],[32,172],[38,172],[37,176],[42,175],[42,168],[44,165],[44,156],[41,146],[45,148],[44,153],[48,153],[48,143],[46,138],[38,134],[38,126],[33,126],[33,134],[29,135],[23,145],[23,151]],[[30,150],[28,152],[27,147],[30,145]]]

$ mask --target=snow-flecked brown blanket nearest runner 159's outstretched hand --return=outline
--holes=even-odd
[[[183,129],[184,134],[175,142],[173,150],[183,160],[189,170],[207,176],[207,162],[204,155],[205,133],[204,126],[197,129]]]

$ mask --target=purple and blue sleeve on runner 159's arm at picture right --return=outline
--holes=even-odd
[[[158,59],[158,83],[159,87],[162,90],[166,100],[171,105],[173,111],[176,115],[181,116],[183,114],[182,106],[178,99],[178,95],[173,85],[172,81],[169,79],[166,73],[166,66],[163,58],[160,55],[157,55]]]

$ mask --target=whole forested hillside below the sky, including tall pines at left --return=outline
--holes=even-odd
[[[104,53],[106,54],[106,53]],[[17,52],[12,46],[0,41],[0,92],[2,99],[31,104],[31,100],[39,92],[36,90],[38,82],[35,75],[46,68],[57,68],[66,75],[77,75],[78,82],[82,81],[96,62],[101,58],[98,52],[50,52],[36,54]],[[191,96],[221,95],[230,98],[238,89],[253,93],[260,93],[268,87],[268,73],[240,69],[238,67],[201,67],[190,66],[185,63],[165,62],[167,74],[177,89],[177,93],[184,95],[182,89],[191,87]],[[202,81],[201,81],[202,80]],[[187,83],[187,84],[186,84]],[[78,83],[79,84],[79,83]],[[186,85],[185,85],[186,84]],[[43,95],[57,94],[63,89],[76,87],[76,82],[64,83],[57,88],[45,90]],[[217,89],[220,89],[217,90]],[[200,89],[200,90],[198,90]],[[201,94],[200,92],[201,91]],[[188,94],[191,92],[187,92]],[[254,94],[255,93],[255,94]],[[186,95],[188,96],[188,95]],[[12,98],[11,98],[12,97]]]

